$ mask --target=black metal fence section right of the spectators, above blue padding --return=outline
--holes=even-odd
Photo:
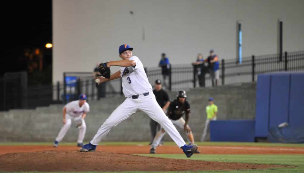
[[[252,55],[243,58],[241,63],[225,61],[220,63],[222,85],[254,82],[257,74],[279,71],[303,71],[304,51],[284,52],[284,55]]]

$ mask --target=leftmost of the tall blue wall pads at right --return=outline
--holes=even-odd
[[[270,74],[257,76],[257,103],[255,113],[255,136],[267,137],[269,123]]]

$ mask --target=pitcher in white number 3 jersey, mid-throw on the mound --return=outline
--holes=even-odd
[[[80,151],[95,151],[98,143],[113,127],[136,112],[143,111],[166,130],[187,157],[191,157],[197,149],[197,145],[187,145],[185,143],[177,129],[158,105],[143,64],[138,57],[132,56],[132,50],[133,48],[127,44],[119,46],[119,57],[123,60],[110,61],[107,63],[107,66],[119,66],[120,70],[112,74],[110,79],[102,76],[95,77],[96,79],[100,79],[99,84],[108,80],[121,78],[123,94],[126,100],[112,112],[109,118],[98,129],[90,143],[81,147]]]

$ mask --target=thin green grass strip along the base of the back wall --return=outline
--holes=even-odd
[[[75,145],[76,142],[62,142],[60,145]],[[86,142],[85,142],[86,143]],[[88,141],[87,141],[88,143]],[[0,145],[52,145],[50,142],[8,142]],[[148,145],[149,142],[102,142],[98,145]],[[247,142],[197,142],[199,146],[251,146],[251,147],[304,147],[297,143],[247,143]],[[164,145],[176,145],[174,142],[165,142]]]

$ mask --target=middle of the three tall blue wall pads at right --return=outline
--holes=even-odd
[[[269,128],[288,122],[290,74],[271,74]]]

